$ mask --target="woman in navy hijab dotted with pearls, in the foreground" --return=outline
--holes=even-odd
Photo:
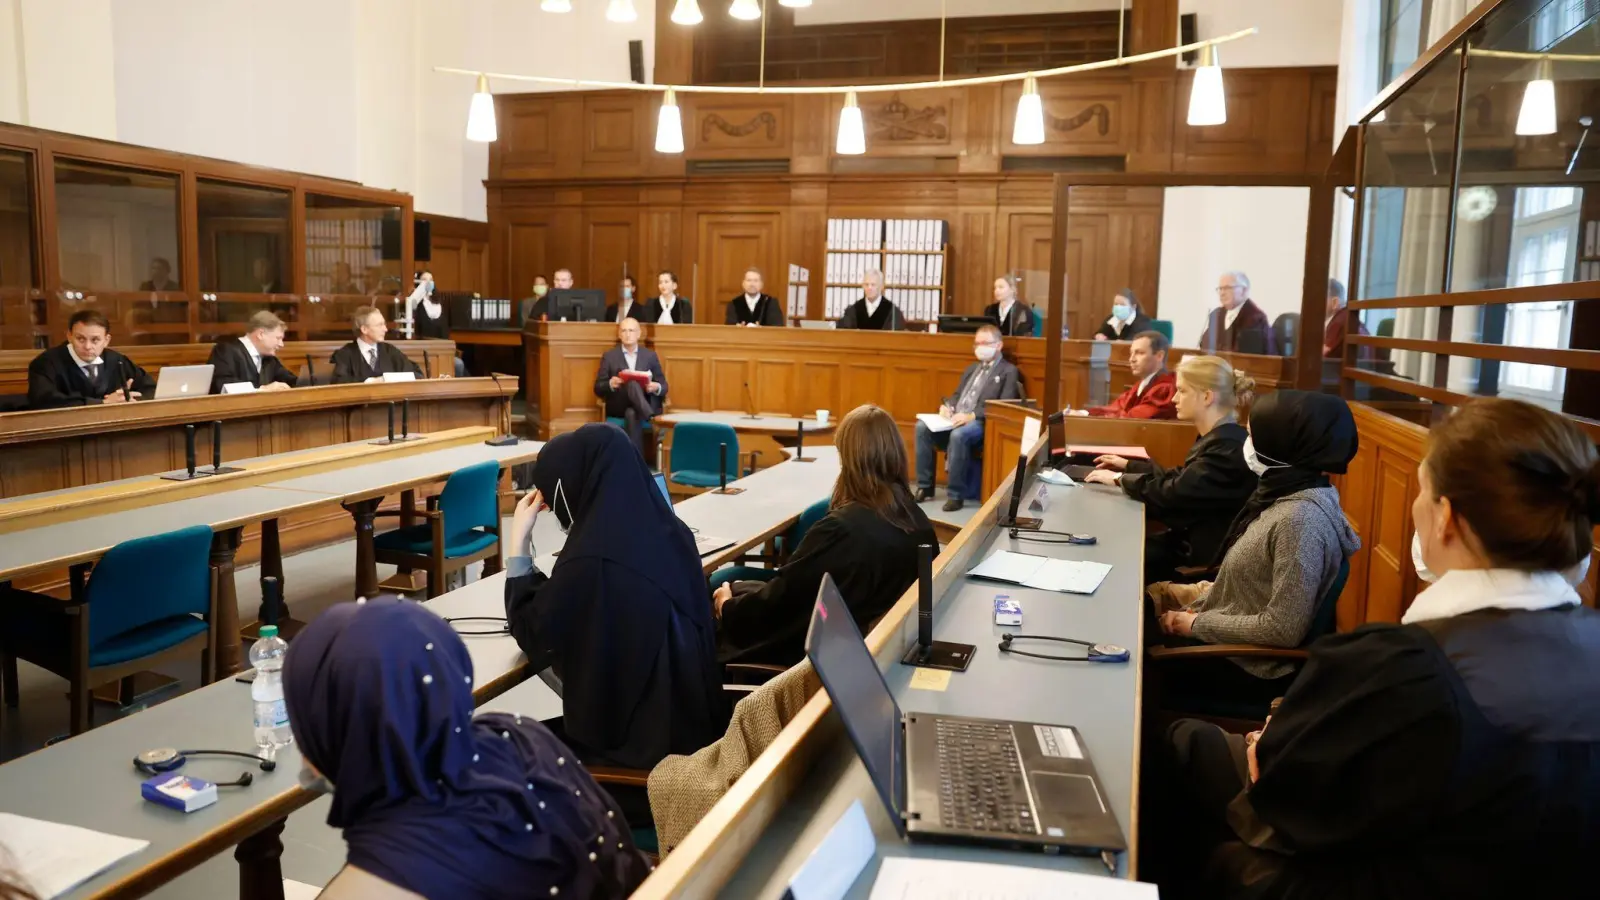
[[[331,790],[347,865],[325,897],[627,897],[648,863],[573,753],[533,719],[472,716],[472,660],[445,620],[339,604],[283,669],[307,786]]]

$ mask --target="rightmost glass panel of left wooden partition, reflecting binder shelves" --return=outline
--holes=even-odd
[[[307,295],[392,296],[400,263],[400,207],[306,195]]]

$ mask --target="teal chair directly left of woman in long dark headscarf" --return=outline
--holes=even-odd
[[[398,516],[400,512],[379,512]],[[499,463],[458,469],[445,490],[427,500],[427,520],[373,538],[378,562],[427,572],[427,596],[445,593],[445,577],[486,559],[485,575],[499,572]]]

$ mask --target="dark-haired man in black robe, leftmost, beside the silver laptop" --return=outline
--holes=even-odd
[[[98,309],[74,312],[67,319],[67,341],[27,364],[27,405],[34,410],[120,404],[152,396],[155,380],[110,349],[110,322]]]

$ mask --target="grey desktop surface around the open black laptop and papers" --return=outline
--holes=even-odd
[[[1109,562],[1112,570],[1099,589],[1093,596],[1077,596],[960,578],[934,607],[933,631],[939,641],[974,644],[978,655],[971,668],[952,676],[949,690],[942,693],[912,690],[909,687],[912,669],[898,661],[888,665],[885,676],[904,711],[1075,725],[1094,761],[1117,822],[1133,846],[1136,834],[1130,826],[1136,801],[1134,778],[1139,769],[1138,649],[1142,615],[1144,509],[1120,493],[1096,487],[1051,485],[1048,490],[1053,503],[1043,514],[1045,528],[1088,532],[1099,536],[1099,544],[1013,541],[1005,532],[994,530],[984,538],[974,564],[994,549]],[[995,594],[1010,594],[1022,604],[1021,628],[994,625]],[[1120,644],[1133,650],[1133,660],[1126,665],[1091,665],[1003,657],[998,650],[1003,631]],[[1059,649],[1042,652],[1069,653]],[[955,844],[907,844],[898,836],[850,741],[840,737],[768,825],[733,881],[723,887],[723,895],[781,897],[784,886],[806,855],[858,799],[872,822],[878,850],[848,897],[867,897],[877,878],[878,862],[890,855],[1107,873],[1098,858],[1088,857],[1046,857]],[[1118,874],[1128,874],[1126,854],[1118,857]]]

